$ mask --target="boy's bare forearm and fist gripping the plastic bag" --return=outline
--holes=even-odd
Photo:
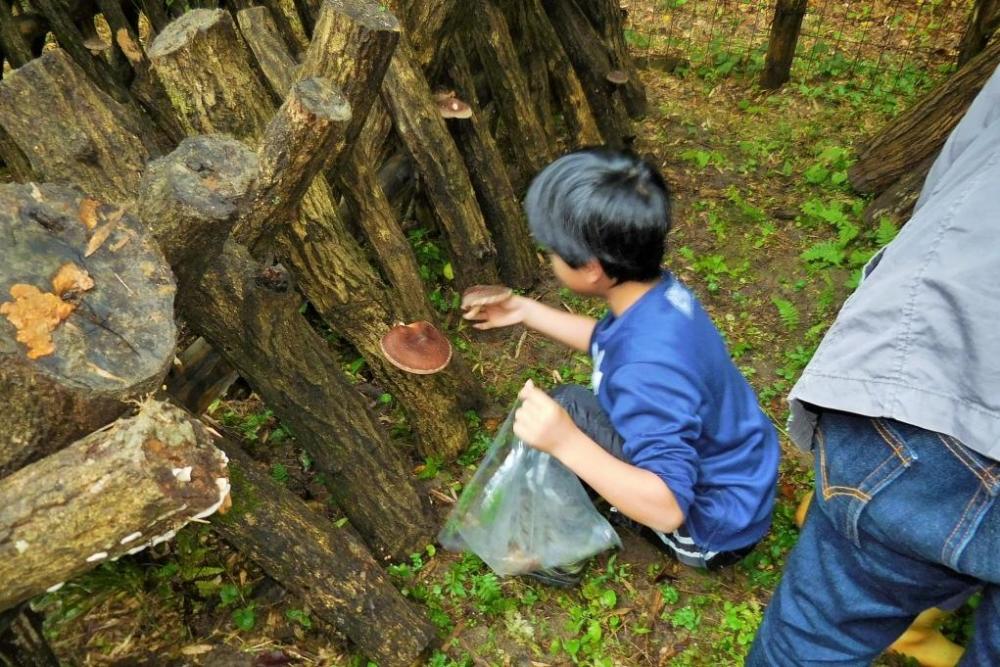
[[[667,533],[684,523],[677,498],[658,475],[605,451],[530,380],[520,398],[514,419],[519,438],[562,461],[622,514]]]

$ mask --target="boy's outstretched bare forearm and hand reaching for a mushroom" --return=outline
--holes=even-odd
[[[523,324],[574,350],[587,352],[597,320],[574,315],[523,296],[512,296],[501,303],[484,306],[477,313],[463,317],[476,322],[476,329],[494,329]]]

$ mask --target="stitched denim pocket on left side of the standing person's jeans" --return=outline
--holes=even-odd
[[[882,419],[827,414],[815,438],[817,501],[834,526],[861,546],[861,513],[917,457]]]

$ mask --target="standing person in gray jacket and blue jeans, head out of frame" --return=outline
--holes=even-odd
[[[1000,664],[998,190],[995,72],[792,389],[815,499],[747,665],[870,664],[977,587],[961,664]]]

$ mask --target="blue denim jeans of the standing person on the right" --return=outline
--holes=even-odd
[[[977,586],[961,664],[1000,665],[1000,463],[835,412],[813,446],[816,496],[746,665],[868,665],[921,611]]]

